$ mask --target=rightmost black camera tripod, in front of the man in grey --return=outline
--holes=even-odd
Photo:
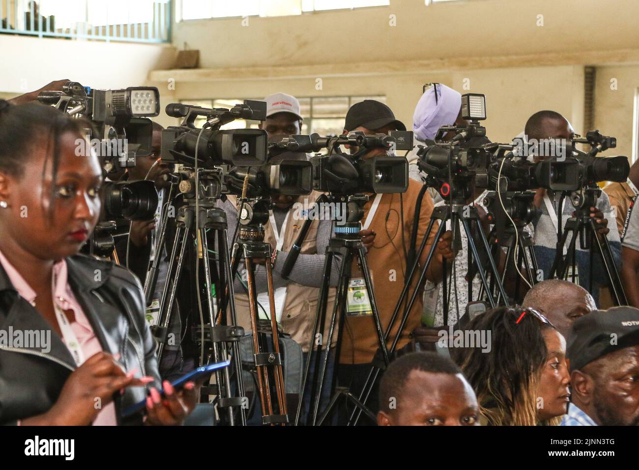
[[[562,207],[564,198],[571,196],[571,202],[575,208],[574,216],[566,221],[566,228],[562,233]],[[592,266],[594,261],[594,247],[601,256],[603,266],[606,270],[606,277],[612,291],[613,301],[615,305],[627,305],[626,293],[624,292],[619,271],[615,266],[615,260],[612,256],[612,250],[608,243],[608,237],[599,239],[597,233],[597,224],[590,217],[590,207],[596,207],[596,202],[601,196],[601,189],[598,186],[585,187],[580,191],[564,191],[559,199],[558,224],[557,224],[557,253],[555,253],[555,261],[550,270],[550,278],[557,274],[558,279],[567,279],[568,267],[572,268],[572,282],[576,282],[575,268],[577,264],[576,258],[576,242],[579,239],[581,249],[590,252],[590,272],[589,272],[589,291],[593,289]],[[614,221],[613,221],[614,222]],[[568,235],[572,235],[568,245],[566,255],[564,256],[564,248]],[[594,241],[594,244],[593,244]],[[593,246],[594,245],[594,246]]]

